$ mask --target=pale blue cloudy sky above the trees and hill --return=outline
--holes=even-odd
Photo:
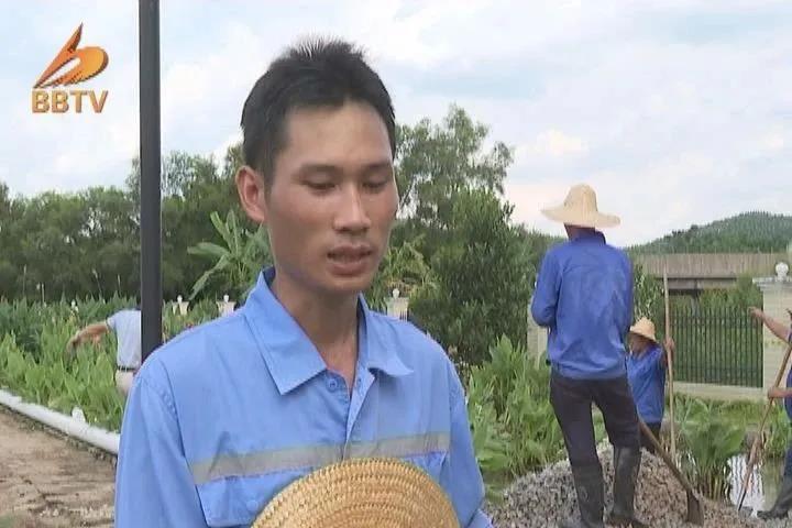
[[[109,64],[99,114],[31,110],[80,24]],[[161,2],[162,146],[222,160],[268,63],[312,36],[355,42],[397,121],[450,105],[514,148],[514,222],[587,183],[627,245],[743,211],[792,212],[792,2],[763,0]],[[4,2],[0,180],[14,195],[123,185],[139,150],[138,2]]]

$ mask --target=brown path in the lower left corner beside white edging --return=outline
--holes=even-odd
[[[112,460],[0,405],[0,528],[112,527]]]

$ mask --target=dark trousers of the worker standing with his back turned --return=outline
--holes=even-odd
[[[602,410],[605,430],[614,447],[640,447],[638,414],[627,376],[615,380],[572,380],[553,372],[550,376],[550,403],[573,466],[600,464],[592,404]]]

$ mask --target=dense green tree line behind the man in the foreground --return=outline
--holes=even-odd
[[[367,293],[371,304],[383,308],[391,289],[399,287],[413,298],[414,317],[473,362],[502,334],[525,341],[537,267],[557,241],[513,224],[503,196],[513,152],[488,140],[487,127],[458,107],[439,123],[398,127],[402,207],[392,248]],[[166,299],[191,293],[240,298],[268,260],[265,235],[238,205],[233,175],[240,163],[240,145],[222,161],[184,152],[164,156]],[[0,298],[134,296],[139,182],[133,161],[121,188],[13,197],[0,183]]]

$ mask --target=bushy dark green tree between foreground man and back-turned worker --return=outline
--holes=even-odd
[[[484,361],[502,336],[525,343],[530,285],[512,211],[491,190],[462,190],[431,261],[431,285],[410,298],[426,329],[468,363]]]

